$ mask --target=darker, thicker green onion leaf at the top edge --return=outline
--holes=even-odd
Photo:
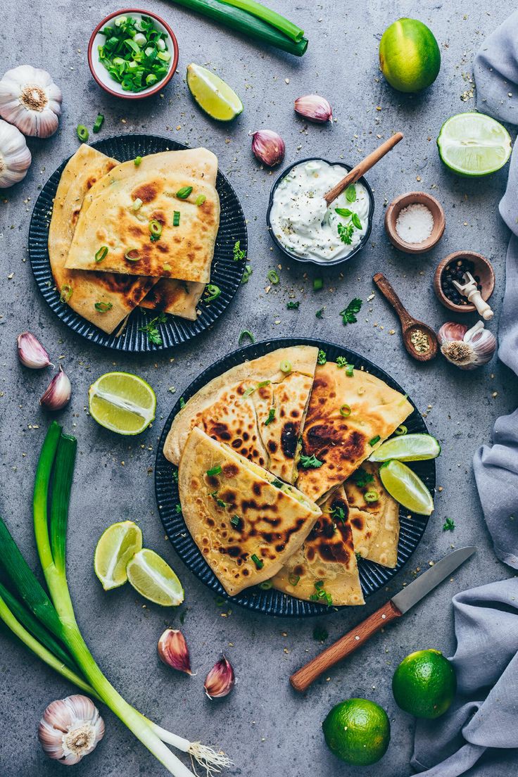
[[[172,0],[172,2],[183,5],[189,11],[208,16],[210,19],[230,27],[231,30],[237,30],[238,33],[243,33],[255,40],[262,41],[262,43],[294,54],[296,57],[301,57],[308,48],[308,38],[301,37],[298,41],[291,40],[275,26],[271,26],[266,20],[263,21],[262,17],[259,18],[252,13],[247,13],[241,8],[236,8],[235,5],[228,5],[225,0]],[[259,6],[259,3],[256,5]],[[266,16],[266,11],[269,9],[263,10],[265,11],[264,16]],[[273,12],[269,13],[273,14]]]

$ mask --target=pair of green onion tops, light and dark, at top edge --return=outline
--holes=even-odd
[[[269,44],[295,57],[308,48],[308,38],[300,27],[254,0],[172,0],[243,33],[253,40]]]

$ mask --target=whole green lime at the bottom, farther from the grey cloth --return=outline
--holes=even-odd
[[[387,713],[368,699],[347,699],[335,705],[322,730],[329,750],[353,766],[375,764],[391,740]]]

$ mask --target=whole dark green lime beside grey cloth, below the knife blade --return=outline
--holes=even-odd
[[[392,678],[396,704],[416,718],[438,718],[454,700],[457,678],[440,650],[416,650],[399,664]]]

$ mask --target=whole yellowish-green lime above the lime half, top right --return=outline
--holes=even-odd
[[[380,66],[399,92],[419,92],[440,71],[440,51],[432,30],[417,19],[398,19],[380,41]]]

